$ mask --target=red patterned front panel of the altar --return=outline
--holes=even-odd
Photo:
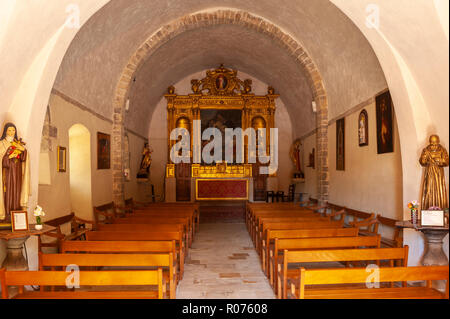
[[[246,179],[197,179],[197,200],[247,200]]]

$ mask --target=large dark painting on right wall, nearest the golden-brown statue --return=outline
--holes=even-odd
[[[389,91],[377,96],[377,153],[390,153],[394,151],[392,129],[392,99]]]

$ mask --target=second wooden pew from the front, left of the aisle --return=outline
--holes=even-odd
[[[78,267],[153,267],[163,269],[163,278],[169,284],[169,298],[175,299],[176,273],[172,253],[165,254],[43,254],[39,253],[39,270],[57,270],[56,267],[77,265]],[[82,270],[81,268],[79,268]],[[122,270],[122,269],[121,269]],[[166,287],[163,287],[166,288]],[[163,289],[165,291],[166,289]],[[44,291],[44,286],[41,286]]]

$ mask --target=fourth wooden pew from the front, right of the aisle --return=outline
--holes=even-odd
[[[269,256],[273,254],[275,238],[295,239],[314,237],[355,237],[358,236],[358,228],[322,228],[322,229],[289,229],[289,230],[268,230],[266,237],[262,241],[263,271],[269,277]]]

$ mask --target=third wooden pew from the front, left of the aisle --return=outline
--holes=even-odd
[[[115,253],[115,254],[161,254],[171,253],[173,256],[173,269],[177,274],[177,281],[181,279],[177,245],[175,240],[167,241],[63,241],[61,244],[63,254],[70,253]]]

